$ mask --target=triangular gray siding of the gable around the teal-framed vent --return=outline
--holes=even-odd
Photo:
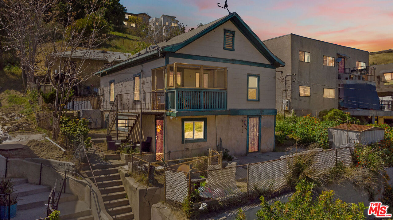
[[[224,29],[235,31],[235,51],[223,49]],[[270,64],[231,21],[220,25],[177,52]]]

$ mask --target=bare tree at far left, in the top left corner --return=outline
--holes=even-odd
[[[22,79],[34,83],[39,46],[46,42],[46,20],[56,0],[1,0],[0,40],[5,50],[17,50],[22,67]],[[26,77],[26,79],[25,79]]]

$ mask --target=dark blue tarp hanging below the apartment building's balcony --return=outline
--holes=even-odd
[[[341,84],[340,87],[341,107],[380,110],[379,97],[374,85],[356,83]]]

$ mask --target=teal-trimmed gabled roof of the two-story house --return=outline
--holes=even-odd
[[[165,52],[176,52],[189,43],[197,40],[198,38],[204,36],[210,31],[213,31],[215,28],[219,27],[225,22],[231,21],[241,32],[246,36],[246,38],[253,44],[253,46],[263,54],[263,56],[270,62],[270,64],[274,65],[275,67],[283,67],[285,63],[280,60],[277,56],[275,56],[264,43],[259,39],[259,37],[248,27],[248,25],[240,18],[240,16],[233,12],[219,18],[213,22],[207,23],[201,27],[198,27],[194,30],[185,32],[184,34],[180,34],[171,38],[170,40],[163,41],[158,43],[158,48],[156,45],[154,47],[150,47],[147,49],[141,50],[139,53],[134,54],[130,57],[129,60],[125,60],[121,63],[108,67],[107,69],[101,70],[100,72],[95,73],[95,75],[104,73],[104,72],[111,72],[118,69],[121,69],[123,66],[132,65],[133,63],[139,62],[141,60],[145,60],[148,58],[152,58],[153,56],[158,55],[159,53]]]

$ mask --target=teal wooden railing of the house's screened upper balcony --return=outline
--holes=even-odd
[[[209,88],[168,89],[166,109],[172,112],[226,110],[226,90]]]

